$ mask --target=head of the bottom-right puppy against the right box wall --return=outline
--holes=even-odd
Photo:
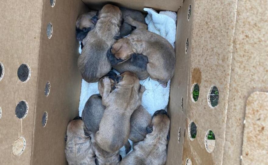
[[[169,140],[170,119],[165,110],[155,111],[152,116],[151,125],[146,128],[147,133],[165,136]]]

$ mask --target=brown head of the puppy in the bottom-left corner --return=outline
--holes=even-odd
[[[89,134],[90,132],[86,130],[83,120],[76,117],[68,123],[65,141],[67,141],[67,137],[68,139],[72,139],[73,137],[88,138]]]

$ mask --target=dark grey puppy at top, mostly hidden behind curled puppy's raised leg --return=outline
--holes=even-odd
[[[120,10],[122,12],[123,19],[125,19],[126,16],[130,16],[131,18],[133,18],[136,21],[139,21],[141,23],[145,23],[144,16],[143,16],[142,12],[140,12],[138,10],[124,8],[124,7],[121,7]],[[126,35],[129,35],[132,32],[132,30],[134,30],[134,29],[135,29],[135,27],[133,27],[127,23],[123,23],[121,28],[120,28],[120,36],[124,37]]]

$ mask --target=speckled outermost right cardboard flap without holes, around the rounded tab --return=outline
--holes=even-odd
[[[268,2],[238,1],[223,164],[241,163],[245,105],[268,91]]]

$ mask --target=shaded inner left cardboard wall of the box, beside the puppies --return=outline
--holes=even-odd
[[[75,25],[77,17],[86,11],[86,5],[80,0],[56,0],[54,7],[49,1],[44,1],[31,159],[33,165],[66,164],[66,126],[78,115],[81,87]],[[53,27],[50,39],[46,33],[49,22]],[[45,97],[47,81],[50,82],[50,93]],[[44,111],[48,113],[45,127],[42,126]]]

